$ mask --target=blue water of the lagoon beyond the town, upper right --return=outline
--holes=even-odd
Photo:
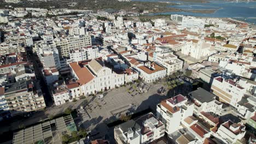
[[[249,23],[256,23],[256,2],[225,2],[225,1],[212,1],[209,3],[191,3],[191,2],[179,2],[179,1],[168,1],[168,0],[136,0],[136,1],[148,1],[148,2],[171,2],[179,3],[179,5],[167,5],[167,7],[178,8],[178,9],[214,9],[215,13],[203,14],[203,13],[189,13],[185,11],[179,12],[167,12],[167,13],[156,13],[150,15],[171,15],[181,14],[190,16],[201,16],[201,17],[231,17],[237,20],[246,21]]]

